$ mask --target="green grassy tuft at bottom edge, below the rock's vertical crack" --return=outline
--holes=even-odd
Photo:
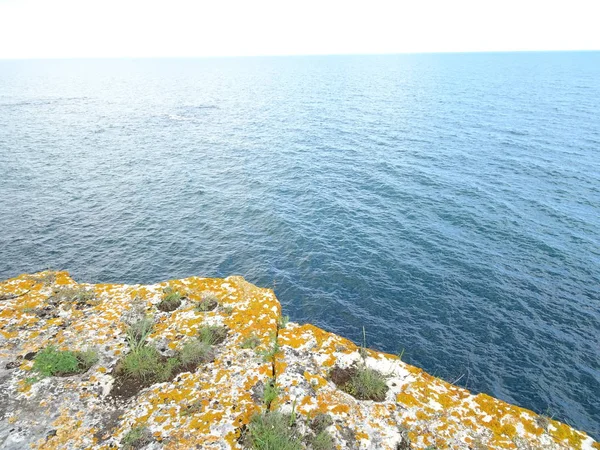
[[[279,412],[264,412],[252,417],[247,440],[254,450],[300,450],[302,442],[289,417]]]

